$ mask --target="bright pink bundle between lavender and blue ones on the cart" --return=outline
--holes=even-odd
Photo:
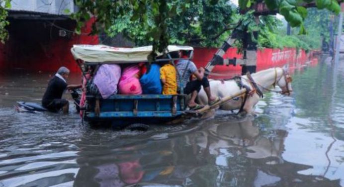
[[[118,90],[120,94],[142,94],[140,81],[135,77],[135,75],[139,72],[140,68],[138,65],[132,65],[124,68],[118,84]]]

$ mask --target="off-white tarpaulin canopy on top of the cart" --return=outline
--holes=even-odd
[[[85,62],[144,62],[152,52],[152,46],[121,48],[106,45],[73,45],[71,51],[74,58]],[[190,46],[169,45],[167,52],[193,50]],[[161,54],[158,54],[158,56]]]

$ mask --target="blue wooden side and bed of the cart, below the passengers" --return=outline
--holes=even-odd
[[[184,114],[183,95],[112,95],[99,99],[100,112],[94,111],[94,96],[86,96],[87,108],[84,119],[90,123],[110,122],[115,126],[135,123],[164,123]]]

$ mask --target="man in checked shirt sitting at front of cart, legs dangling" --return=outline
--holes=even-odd
[[[200,109],[204,107],[203,105],[197,104],[195,99],[198,92],[201,90],[201,86],[208,96],[209,105],[212,105],[220,100],[220,97],[215,97],[211,95],[210,85],[208,79],[204,76],[204,68],[199,68],[197,70],[196,65],[189,60],[188,51],[180,51],[179,53],[181,60],[178,61],[176,68],[178,71],[177,84],[178,91],[183,89],[184,94],[191,94],[191,98],[188,102],[188,107],[192,110]],[[191,75],[196,77],[196,80],[190,81]]]

